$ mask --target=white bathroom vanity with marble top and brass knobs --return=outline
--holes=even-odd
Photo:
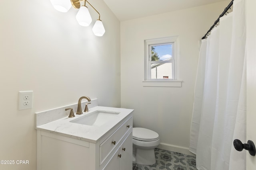
[[[49,113],[36,115],[37,170],[132,170],[132,111],[96,106],[48,123]]]

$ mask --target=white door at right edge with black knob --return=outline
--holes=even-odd
[[[256,0],[246,0],[247,140],[256,144]],[[246,152],[246,170],[256,170],[256,156]]]

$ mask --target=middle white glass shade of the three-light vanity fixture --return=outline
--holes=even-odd
[[[92,22],[92,17],[89,13],[89,10],[86,6],[81,6],[78,13],[76,14],[76,20],[79,25],[87,27]]]

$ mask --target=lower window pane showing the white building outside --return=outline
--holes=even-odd
[[[172,79],[172,63],[151,64],[151,79]]]

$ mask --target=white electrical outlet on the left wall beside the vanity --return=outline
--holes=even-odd
[[[33,91],[19,92],[19,110],[33,107]]]

